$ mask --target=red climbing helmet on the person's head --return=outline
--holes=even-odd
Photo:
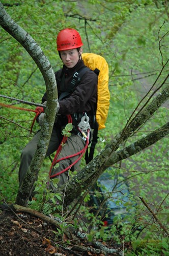
[[[81,47],[82,45],[80,34],[75,29],[63,29],[57,36],[58,51],[70,50]]]

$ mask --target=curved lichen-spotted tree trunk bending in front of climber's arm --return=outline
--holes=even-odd
[[[10,35],[12,35],[31,55],[38,68],[40,69],[46,84],[47,92],[47,105],[45,109],[45,120],[41,130],[41,136],[37,146],[36,153],[31,162],[31,165],[26,173],[26,176],[19,188],[16,198],[16,204],[26,206],[29,200],[34,183],[38,176],[42,162],[44,160],[48,143],[50,140],[52,127],[57,111],[58,91],[57,83],[55,80],[54,72],[50,63],[44,55],[41,48],[35,40],[20,26],[18,26],[10,15],[5,11],[2,3],[0,2],[0,25]]]

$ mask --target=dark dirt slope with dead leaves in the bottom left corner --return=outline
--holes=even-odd
[[[58,236],[54,225],[24,212],[3,211],[0,214],[1,256],[123,255],[124,245],[100,243],[115,252],[100,252],[87,239],[69,244],[66,236]]]

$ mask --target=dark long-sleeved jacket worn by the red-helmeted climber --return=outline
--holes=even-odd
[[[60,89],[63,73],[65,73],[64,89],[66,91],[74,73],[80,70],[82,67],[85,67],[85,64],[83,60],[80,60],[72,69],[68,69],[65,65],[63,65],[62,72],[61,70],[55,72],[58,87],[58,98],[62,93]],[[88,70],[86,74],[82,76],[81,81],[77,85],[74,92],[67,98],[59,100],[60,110],[58,114],[69,115],[82,112],[87,112],[89,115],[91,115],[91,112],[95,114],[97,104],[97,82],[97,75],[93,71]],[[45,93],[42,98],[42,103],[46,99]]]

